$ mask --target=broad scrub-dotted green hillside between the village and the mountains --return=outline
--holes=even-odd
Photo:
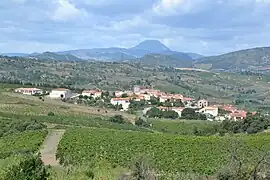
[[[70,86],[128,90],[134,85],[152,86],[165,92],[207,98],[211,102],[241,106],[269,106],[269,81],[265,75],[185,71],[137,63],[66,62],[0,58],[0,81],[32,86]]]

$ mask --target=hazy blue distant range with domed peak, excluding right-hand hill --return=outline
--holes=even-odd
[[[121,61],[134,60],[142,58],[148,54],[161,54],[177,56],[182,60],[194,60],[202,55],[196,53],[183,53],[172,51],[158,40],[146,40],[132,48],[93,48],[77,49],[61,52],[44,52],[33,54],[8,53],[6,56],[28,56],[37,59],[55,59],[55,60],[97,60],[97,61]]]

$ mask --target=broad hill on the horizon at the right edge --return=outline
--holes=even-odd
[[[259,47],[235,51],[219,56],[204,57],[196,60],[196,68],[210,70],[269,70],[270,47]]]

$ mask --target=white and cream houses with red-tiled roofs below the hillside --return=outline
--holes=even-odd
[[[35,95],[35,94],[43,94],[43,90],[38,88],[18,88],[15,89],[15,92],[22,93],[26,95]],[[47,92],[46,92],[47,93]],[[70,99],[78,96],[91,96],[92,98],[101,98],[102,90],[94,89],[94,90],[84,90],[81,94],[73,93],[69,89],[65,88],[57,88],[51,90],[48,93],[48,97],[52,99]],[[178,113],[179,117],[182,115],[182,111],[185,108],[193,108],[196,109],[196,112],[207,115],[209,120],[217,120],[223,121],[225,119],[229,120],[242,120],[246,118],[247,112],[243,110],[238,110],[236,107],[232,105],[212,105],[209,106],[209,103],[205,99],[200,99],[195,101],[192,98],[184,97],[182,94],[170,94],[161,92],[156,89],[149,89],[145,87],[135,86],[133,91],[115,91],[113,93],[113,98],[111,98],[110,103],[112,105],[121,105],[122,111],[127,111],[129,109],[129,105],[131,101],[141,101],[145,100],[148,102],[149,106],[151,106],[150,100],[151,97],[155,97],[159,100],[160,103],[164,102],[175,102],[181,101],[184,104],[184,107],[174,107],[172,103],[172,107],[170,110]],[[143,113],[147,113],[149,109],[153,106],[145,108]],[[168,110],[168,107],[157,107],[162,111]],[[219,109],[223,109],[226,114],[220,115]]]

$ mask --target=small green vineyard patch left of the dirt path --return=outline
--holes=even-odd
[[[47,131],[28,131],[0,138],[0,159],[12,154],[36,152],[47,135]]]

